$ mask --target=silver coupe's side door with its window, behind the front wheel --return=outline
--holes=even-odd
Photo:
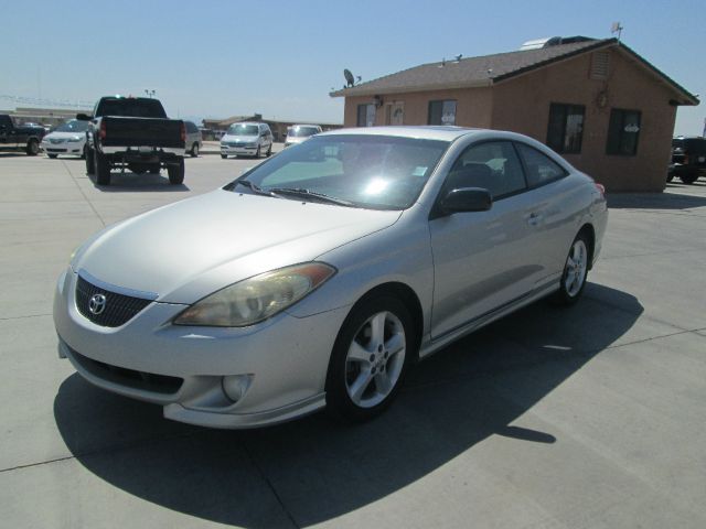
[[[461,153],[440,193],[483,187],[486,212],[456,213],[429,222],[435,288],[431,337],[442,337],[518,301],[532,291],[541,266],[533,248],[533,204],[510,141],[472,144]]]

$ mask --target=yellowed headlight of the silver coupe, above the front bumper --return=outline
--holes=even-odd
[[[218,290],[179,314],[175,325],[245,327],[293,305],[328,281],[335,269],[306,262],[260,273]]]

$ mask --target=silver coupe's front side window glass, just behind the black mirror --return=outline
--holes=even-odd
[[[494,201],[524,191],[524,173],[512,143],[489,141],[463,151],[447,176],[443,192],[459,187],[488,190]]]

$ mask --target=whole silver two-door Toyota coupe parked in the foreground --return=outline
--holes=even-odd
[[[176,421],[367,419],[411,363],[575,302],[606,223],[602,186],[521,134],[328,132],[86,241],[56,285],[58,352]]]

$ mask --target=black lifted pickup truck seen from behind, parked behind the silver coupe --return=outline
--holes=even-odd
[[[170,184],[184,181],[184,140],[180,119],[168,119],[162,104],[147,97],[101,97],[86,131],[86,172],[99,185],[110,185],[110,170],[127,168],[137,174],[165,168]]]

